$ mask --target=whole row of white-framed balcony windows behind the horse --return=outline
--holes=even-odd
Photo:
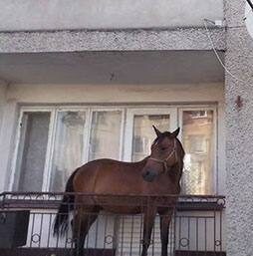
[[[11,187],[64,191],[71,173],[98,158],[137,161],[149,154],[152,129],[174,130],[185,149],[182,191],[215,190],[215,108],[22,108]],[[110,146],[110,150],[109,150]]]

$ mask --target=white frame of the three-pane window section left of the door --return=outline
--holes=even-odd
[[[42,191],[49,191],[50,188],[50,178],[52,176],[52,163],[53,163],[53,150],[55,146],[55,140],[56,140],[56,128],[57,128],[57,118],[58,113],[61,112],[85,112],[86,113],[86,123],[84,127],[84,151],[82,152],[83,158],[82,162],[87,162],[89,157],[89,141],[90,141],[90,132],[91,132],[91,126],[92,126],[92,115],[94,112],[116,112],[119,111],[122,113],[122,126],[121,126],[121,140],[120,140],[120,153],[119,153],[119,159],[122,160],[123,158],[123,146],[124,146],[124,128],[125,128],[125,108],[118,108],[118,107],[112,107],[112,108],[103,108],[103,107],[21,107],[19,111],[19,120],[18,120],[18,126],[16,129],[16,143],[15,143],[15,149],[14,149],[14,157],[11,164],[11,177],[9,181],[9,190],[13,190],[14,188],[14,178],[15,178],[15,171],[16,171],[16,165],[17,165],[17,159],[18,159],[18,148],[20,144],[20,137],[21,137],[21,128],[20,125],[22,123],[22,119],[24,116],[24,113],[37,113],[37,112],[47,112],[50,113],[50,124],[49,124],[49,131],[48,131],[48,143],[47,143],[47,151],[45,156],[45,165],[43,170],[43,180],[42,180]],[[73,170],[74,171],[74,170]]]

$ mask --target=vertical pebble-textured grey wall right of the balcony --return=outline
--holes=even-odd
[[[243,21],[244,10],[245,1],[225,3],[225,63],[234,76],[245,81],[226,74],[228,256],[253,255],[253,39]]]

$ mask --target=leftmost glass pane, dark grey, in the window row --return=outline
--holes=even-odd
[[[14,189],[40,191],[48,144],[50,113],[24,113]]]

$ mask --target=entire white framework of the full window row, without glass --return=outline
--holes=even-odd
[[[182,128],[182,115],[183,111],[213,111],[213,193],[218,192],[218,105],[213,104],[197,104],[197,105],[178,105],[178,104],[157,104],[157,105],[115,105],[113,106],[103,106],[103,105],[80,105],[80,106],[21,106],[19,109],[19,117],[16,128],[15,146],[13,152],[13,160],[11,161],[11,175],[9,179],[9,190],[13,191],[14,188],[14,178],[18,157],[18,148],[20,144],[22,118],[26,112],[49,112],[50,124],[48,132],[48,143],[46,160],[43,172],[42,181],[42,191],[49,191],[50,179],[52,174],[52,163],[53,163],[53,150],[55,146],[56,139],[56,128],[57,128],[57,115],[60,112],[86,112],[86,124],[84,127],[84,151],[82,153],[82,161],[86,163],[89,158],[89,141],[91,135],[92,126],[92,115],[94,112],[107,112],[107,111],[121,111],[122,112],[122,127],[121,127],[121,143],[120,143],[120,154],[119,159],[124,161],[131,160],[131,150],[132,150],[132,135],[133,135],[133,117],[134,115],[169,115],[170,116],[170,129],[174,130],[177,127]],[[174,122],[173,122],[174,121]],[[182,138],[182,129],[178,134],[178,138]]]

